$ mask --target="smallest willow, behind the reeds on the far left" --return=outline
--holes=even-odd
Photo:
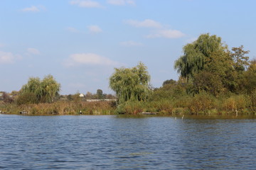
[[[51,103],[53,102],[53,98],[58,95],[59,91],[60,84],[55,81],[52,75],[44,77],[42,81],[38,77],[31,77],[28,79],[28,83],[22,86],[21,96],[27,96],[26,94],[33,94],[33,96],[36,96],[36,101],[33,103]]]

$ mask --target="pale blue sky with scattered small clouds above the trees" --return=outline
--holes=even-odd
[[[53,75],[60,94],[113,94],[114,68],[143,62],[150,84],[178,80],[174,62],[203,33],[256,58],[255,0],[1,0],[0,91]]]

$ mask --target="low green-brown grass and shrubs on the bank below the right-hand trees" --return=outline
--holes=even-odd
[[[127,101],[117,106],[117,113],[136,115],[255,115],[255,98],[247,95],[215,97],[206,93],[147,102]]]

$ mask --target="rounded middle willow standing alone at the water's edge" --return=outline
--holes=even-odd
[[[132,68],[115,68],[110,77],[110,88],[116,92],[119,103],[145,101],[150,93],[150,76],[146,66],[139,62]]]

